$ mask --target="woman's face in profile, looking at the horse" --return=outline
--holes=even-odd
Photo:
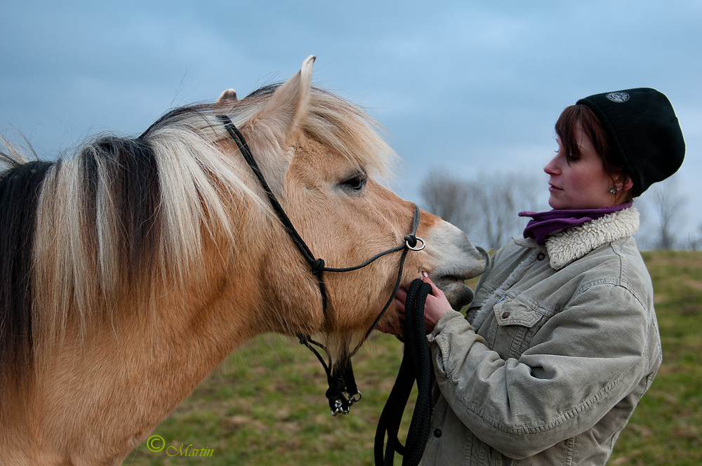
[[[558,153],[543,167],[548,180],[548,205],[555,209],[581,209],[609,207],[616,204],[616,198],[609,189],[612,182],[604,171],[602,159],[592,146],[580,124],[575,130],[580,147],[580,157],[566,154],[557,138]]]

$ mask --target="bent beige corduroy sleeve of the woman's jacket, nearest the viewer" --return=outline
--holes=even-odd
[[[647,312],[627,289],[592,286],[501,359],[459,312],[428,335],[437,383],[463,424],[511,458],[594,426],[649,371]]]

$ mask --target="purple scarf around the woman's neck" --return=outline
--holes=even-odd
[[[548,212],[519,212],[519,217],[531,217],[527,227],[524,229],[524,238],[534,238],[536,244],[543,246],[546,244],[548,235],[559,232],[562,229],[578,227],[583,223],[591,222],[604,215],[621,211],[631,207],[633,204],[621,204],[620,206],[602,208],[583,208],[576,210],[553,209]]]

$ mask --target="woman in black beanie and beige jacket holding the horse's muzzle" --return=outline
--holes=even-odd
[[[524,238],[491,258],[467,317],[432,284],[423,465],[604,465],[661,364],[631,200],[682,164],[673,107],[649,88],[592,95],[556,133],[554,210],[519,214]]]

